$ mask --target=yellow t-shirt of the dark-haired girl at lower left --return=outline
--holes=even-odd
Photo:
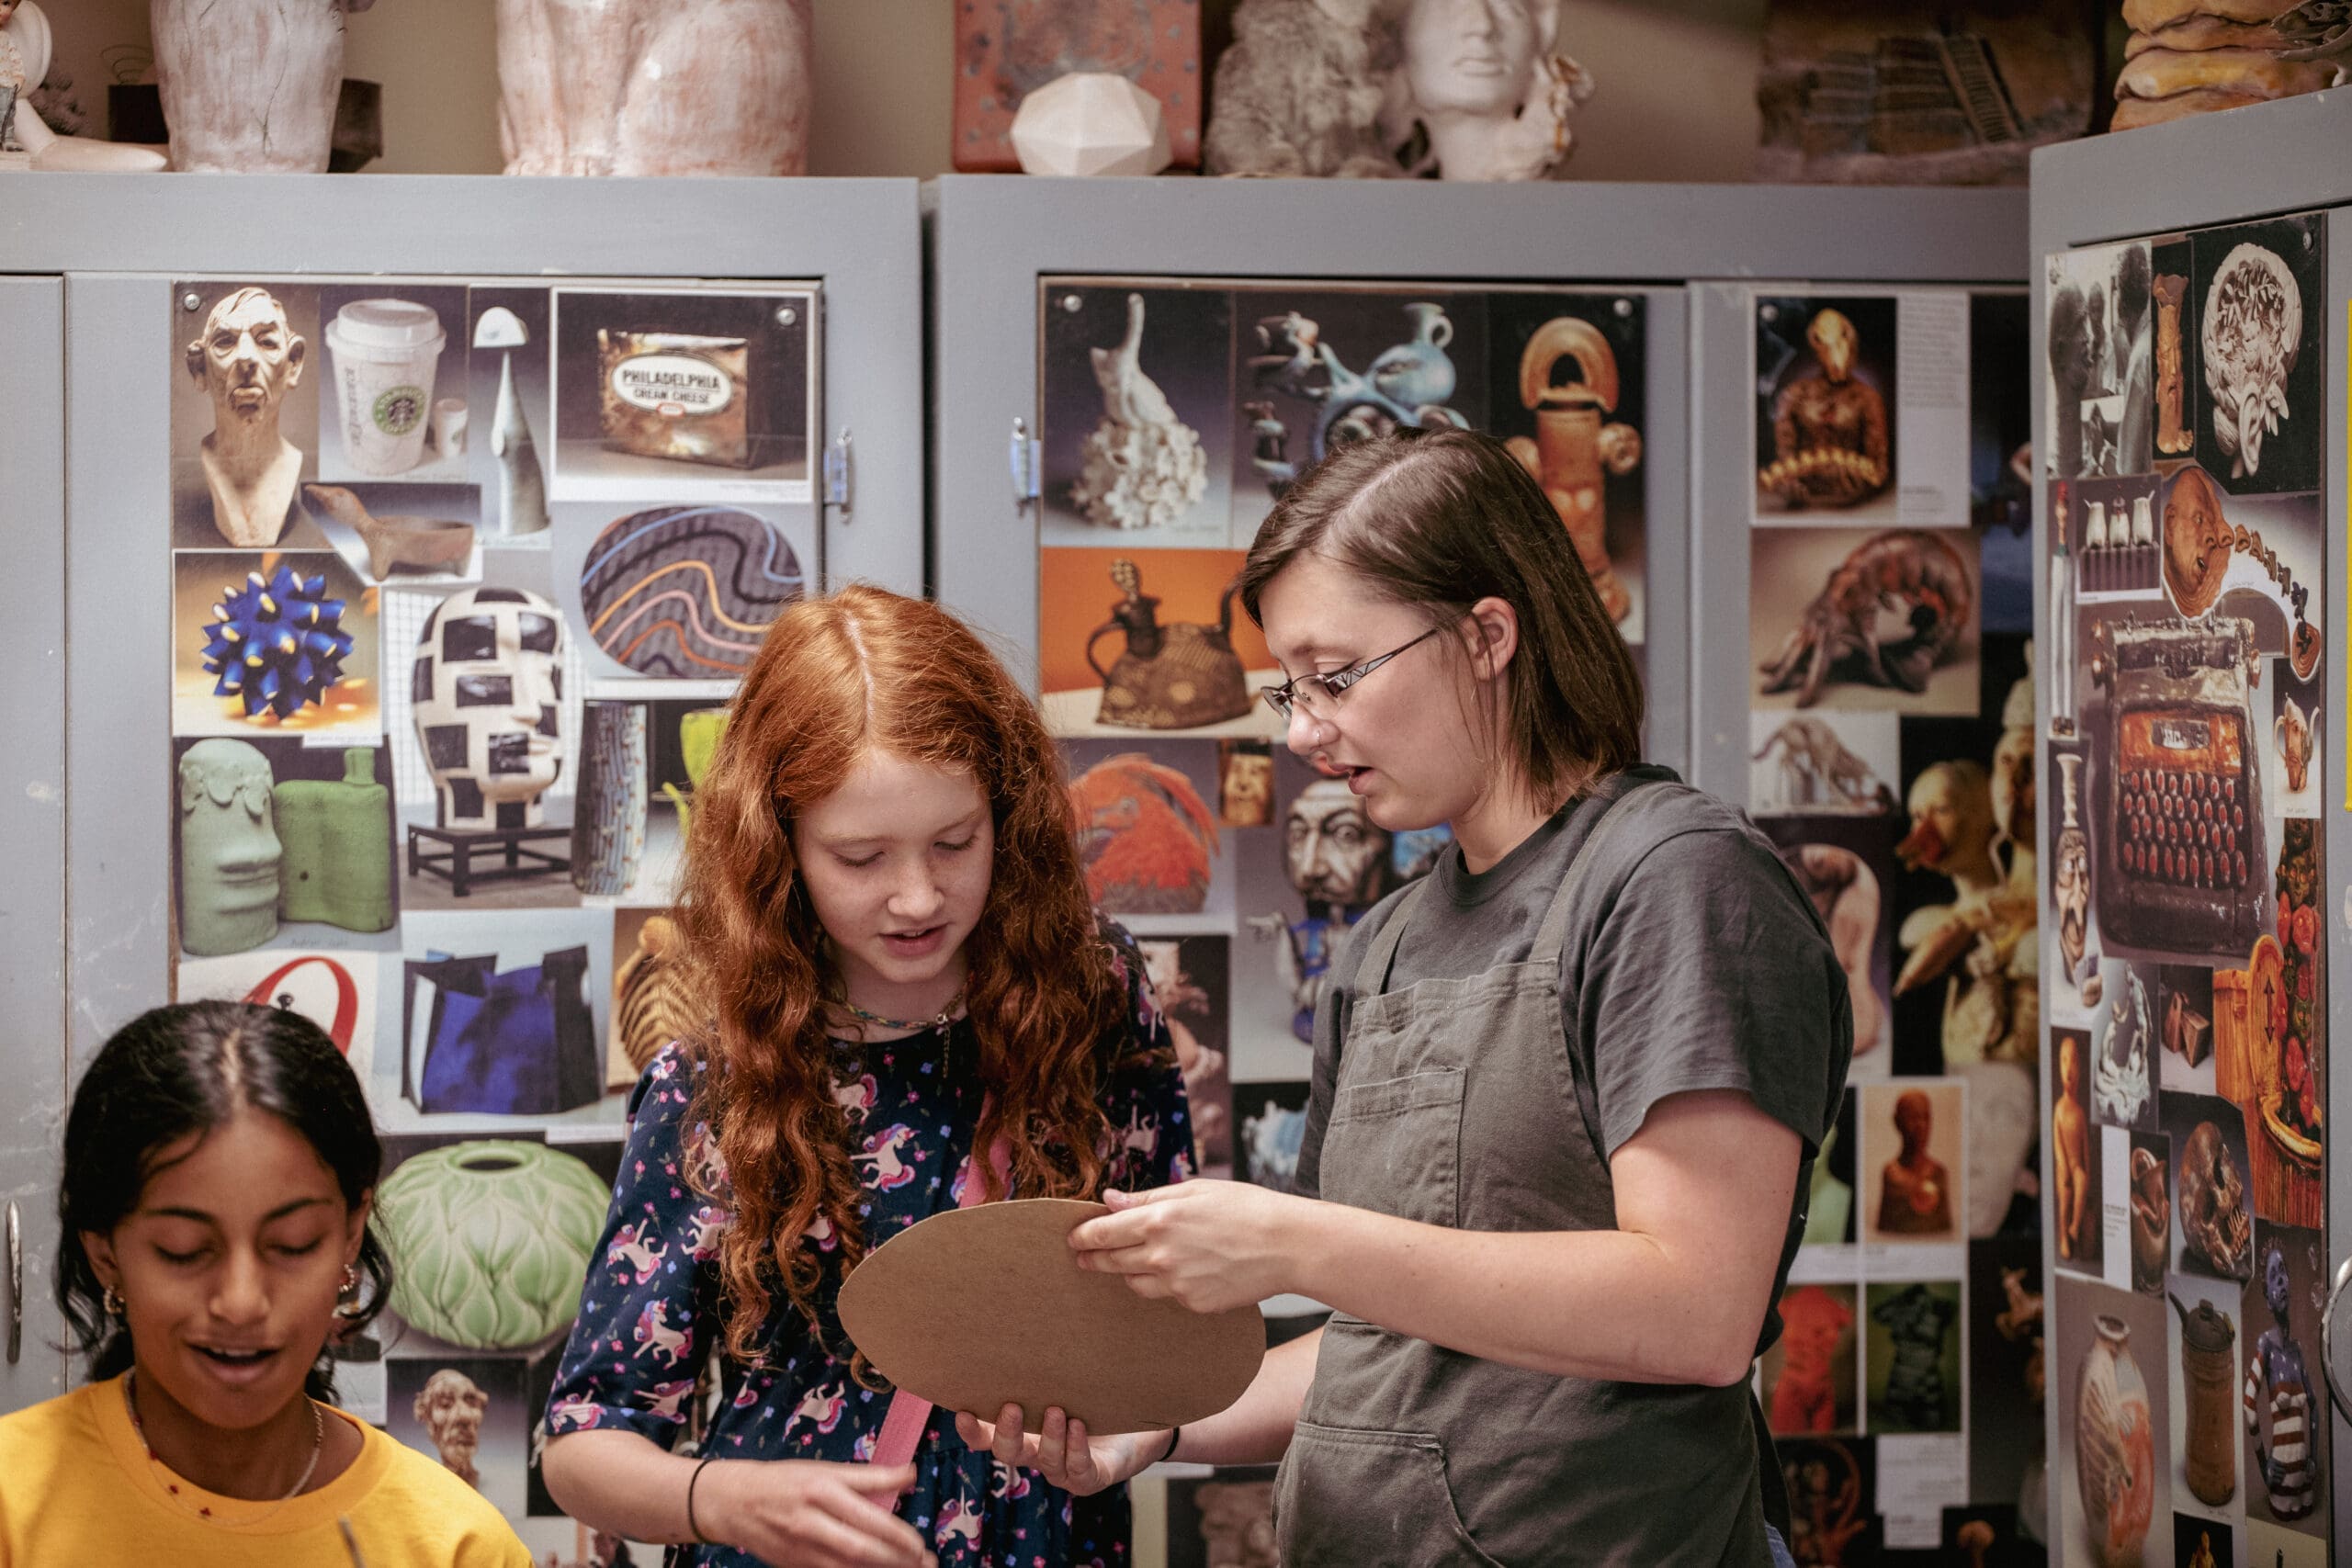
[[[360,1429],[360,1458],[285,1507],[207,1493],[148,1460],[120,1378],[0,1418],[0,1568],[350,1568],[336,1519],[367,1568],[532,1568],[480,1493],[367,1422],[329,1415]]]

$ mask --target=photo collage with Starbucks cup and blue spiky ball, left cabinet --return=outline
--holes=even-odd
[[[386,1143],[360,1415],[527,1455],[684,999],[696,778],[821,581],[814,284],[172,287],[174,997],[301,1011]]]

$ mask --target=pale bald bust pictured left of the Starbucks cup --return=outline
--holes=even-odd
[[[188,374],[212,397],[205,484],[212,524],[233,545],[266,550],[285,531],[301,447],[278,433],[287,393],[301,386],[310,346],[268,289],[221,299],[188,343]]]

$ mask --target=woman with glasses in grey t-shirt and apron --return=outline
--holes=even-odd
[[[1625,644],[1501,444],[1334,454],[1242,602],[1291,750],[1454,846],[1331,966],[1305,1197],[1185,1182],[1073,1234],[1141,1295],[1334,1307],[1174,1458],[1279,1458],[1291,1568],[1790,1561],[1748,1371],[1853,1048],[1813,903],[1637,759]],[[1124,1474],[1112,1443],[971,1436],[1073,1490]]]

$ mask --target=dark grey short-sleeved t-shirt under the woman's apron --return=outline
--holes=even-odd
[[[1635,766],[1625,783],[1668,780],[1630,795],[1630,813],[1604,844],[1609,863],[1588,860],[1562,952],[1562,1025],[1576,1079],[1590,1103],[1578,1112],[1602,1159],[1642,1131],[1649,1107],[1700,1088],[1745,1091],[1757,1107],[1804,1138],[1773,1281],[1804,1234],[1806,1175],[1853,1056],[1853,1011],[1830,936],[1771,839],[1740,811],[1682,785],[1672,769]],[[1315,1013],[1315,1088],[1298,1152],[1298,1190],[1319,1194],[1324,1124],[1338,1081],[1350,999],[1362,990],[1404,990],[1416,980],[1468,978],[1529,957],[1536,926],[1590,835],[1592,799],[1573,799],[1484,872],[1463,867],[1461,846],[1430,872],[1414,926],[1397,945],[1388,985],[1359,983],[1357,966],[1402,893],[1385,898],[1348,933]],[[1529,1093],[1559,1093],[1555,1081]],[[1766,1312],[1762,1354],[1780,1333]]]

